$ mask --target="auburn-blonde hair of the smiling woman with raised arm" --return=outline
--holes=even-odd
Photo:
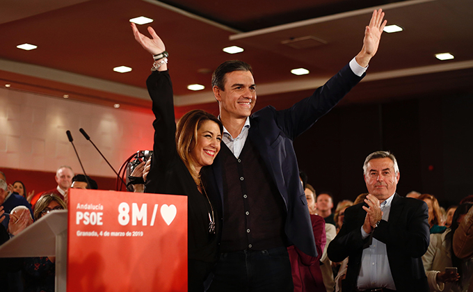
[[[186,165],[189,172],[195,181],[195,184],[200,185],[200,174],[195,170],[195,166],[191,163],[191,151],[195,147],[195,142],[198,139],[198,129],[203,122],[211,120],[218,124],[220,132],[223,133],[223,124],[215,115],[207,113],[202,110],[189,111],[181,117],[177,122],[176,129],[176,147],[177,154]]]

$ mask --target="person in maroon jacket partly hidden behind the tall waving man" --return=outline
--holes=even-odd
[[[315,190],[310,184],[307,184],[307,188],[305,188],[305,195],[318,256],[311,257],[296,248],[295,245],[287,248],[291,261],[294,292],[326,292],[319,261],[326,247],[326,224],[321,216],[311,213],[315,211]]]

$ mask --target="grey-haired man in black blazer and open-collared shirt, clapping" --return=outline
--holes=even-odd
[[[342,290],[427,292],[427,205],[396,194],[399,167],[390,152],[369,154],[363,170],[369,195],[345,210],[342,229],[328,246],[332,261],[348,257]]]

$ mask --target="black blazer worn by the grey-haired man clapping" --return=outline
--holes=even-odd
[[[342,290],[355,291],[361,268],[363,248],[369,246],[371,236],[364,240],[361,227],[366,211],[361,203],[345,210],[342,229],[328,245],[328,258],[343,261],[348,257],[346,279]],[[421,200],[394,194],[390,217],[381,220],[371,233],[372,237],[386,244],[387,259],[397,291],[428,292],[428,282],[422,265],[422,256],[430,241],[428,207]]]

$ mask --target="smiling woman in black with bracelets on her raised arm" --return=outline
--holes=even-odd
[[[148,27],[151,38],[131,24],[136,41],[154,58],[146,81],[156,120],[147,193],[188,196],[189,291],[204,291],[204,282],[216,262],[218,222],[216,209],[205,192],[200,170],[214,162],[220,150],[223,126],[210,113],[194,110],[177,123],[168,53],[161,38]]]

